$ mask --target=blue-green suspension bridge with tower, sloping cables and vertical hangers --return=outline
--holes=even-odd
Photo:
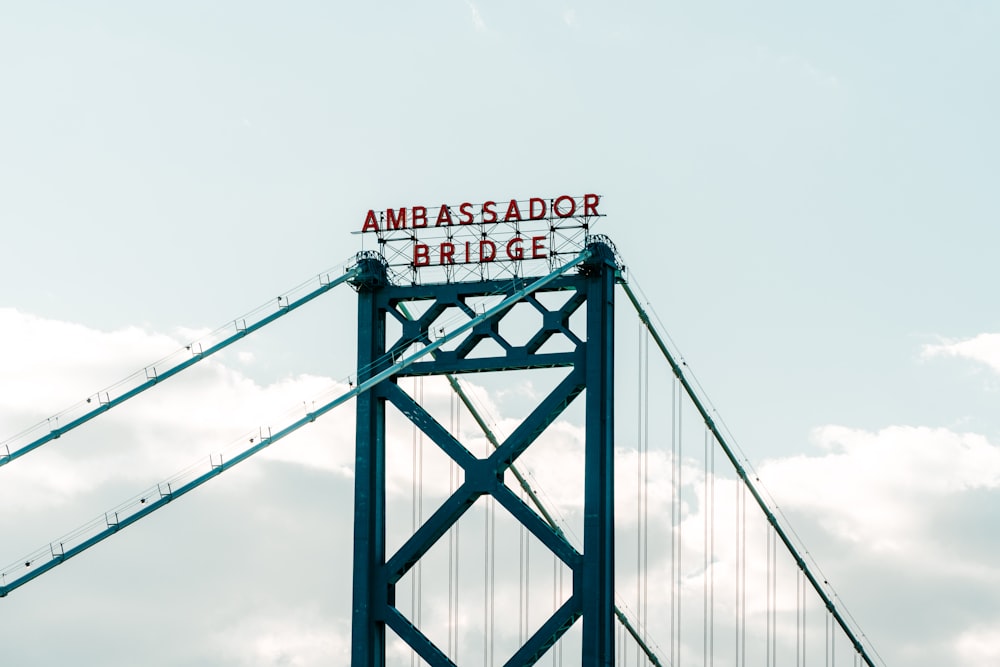
[[[583,202],[596,213],[596,198]],[[558,212],[543,220],[542,271],[523,255],[446,262],[463,242],[450,229],[435,279],[391,248],[363,251],[2,441],[0,467],[59,446],[324,294],[357,292],[346,391],[311,397],[18,558],[0,570],[0,597],[351,403],[356,667],[884,665],[611,241],[586,218],[560,241],[556,218],[577,218]],[[518,373],[538,396],[520,420],[491,414],[484,395]],[[387,491],[390,473],[408,494]]]

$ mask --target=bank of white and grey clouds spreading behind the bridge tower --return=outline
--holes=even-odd
[[[9,369],[5,377],[9,380],[0,387],[0,418],[12,428],[37,419],[42,409],[39,403],[45,409],[53,405],[58,409],[57,401],[85,396],[95,386],[113,381],[115,374],[141,368],[182,342],[175,335],[139,327],[100,331],[10,309],[0,310],[0,322],[9,340],[16,343],[0,350],[0,367]],[[0,469],[0,531],[5,536],[0,557],[14,558],[46,544],[45,540],[78,525],[74,522],[82,523],[192,461],[208,469],[210,453],[218,455],[230,443],[245,447],[248,428],[280,427],[305,415],[314,400],[347,389],[330,378],[308,374],[258,381],[250,375],[253,365],[247,368],[240,363],[242,356],[253,351],[244,349],[243,342],[239,345],[231,357],[205,360]],[[502,439],[557,380],[558,373],[553,372],[547,381],[521,382],[519,391],[509,394],[495,391],[488,374],[468,376],[462,383]],[[491,451],[468,412],[457,408],[443,379],[404,380],[400,387],[419,392],[428,412],[458,432],[460,441],[476,456]],[[573,410],[581,409],[577,403],[571,406],[565,418],[552,424],[516,462],[577,547],[583,520],[584,434],[581,415]],[[389,546],[394,549],[412,530],[415,463],[423,471],[419,490],[424,498],[423,518],[430,516],[454,481],[436,445],[414,432],[395,409],[388,411],[388,420],[387,512]],[[927,656],[939,663],[994,661],[991,637],[1000,627],[1000,618],[991,605],[1000,596],[1000,568],[994,558],[998,545],[982,526],[995,518],[992,508],[1000,493],[1000,448],[977,433],[907,425],[877,430],[827,425],[817,428],[812,437],[813,452],[765,461],[758,466],[758,474],[781,508],[782,521],[791,522],[799,531],[796,535],[802,536],[809,552],[830,572],[831,581],[851,589],[846,597],[854,609],[866,612],[862,625],[869,636],[880,646],[890,642],[883,638],[894,638],[889,644],[898,647],[893,657],[911,656],[909,664],[928,664],[931,658]],[[13,604],[18,605],[14,616],[23,620],[17,621],[12,632],[28,632],[50,613],[47,610],[53,602],[46,597],[47,586],[61,601],[60,613],[77,620],[89,613],[84,605],[97,588],[105,600],[102,613],[133,637],[147,632],[144,628],[154,619],[171,632],[197,635],[199,627],[208,625],[223,629],[221,634],[195,636],[183,650],[171,649],[159,664],[343,662],[350,615],[350,539],[344,536],[350,534],[352,521],[353,439],[351,406],[317,420],[255,457],[256,463],[240,466],[240,472],[227,474],[183,503],[172,504],[174,509],[157,512],[155,519],[126,531],[125,535],[134,537],[115,538],[108,546],[74,559],[78,565],[67,566],[69,574],[46,575],[0,602],[6,605],[15,600]],[[423,450],[419,461],[414,459],[414,445]],[[634,448],[619,445],[615,458],[619,601],[626,608],[637,607],[642,581],[635,575],[635,563],[640,550],[638,531],[644,526],[649,541],[648,581],[660,586],[659,593],[649,598],[646,625],[661,645],[669,636],[670,612],[669,596],[662,594],[662,586],[678,576],[671,562],[673,545],[681,553],[677,595],[685,608],[700,609],[709,577],[717,591],[719,636],[729,636],[735,608],[731,598],[737,586],[739,554],[729,537],[741,526],[734,511],[739,487],[721,459],[712,477],[699,460],[698,447],[685,451],[688,455],[680,467],[679,532],[671,525],[674,489],[669,451],[654,446],[649,453],[648,474],[653,483],[646,498],[649,523],[645,526],[639,520],[635,490],[639,455]],[[512,475],[506,475],[505,481],[516,488]],[[707,493],[712,488],[710,501]],[[711,512],[710,507],[714,508]],[[767,574],[759,556],[764,553],[767,524],[752,500],[748,509],[743,530],[754,557],[748,560],[744,575],[747,627],[752,634],[760,634]],[[487,512],[480,501],[460,521],[464,609],[481,609],[483,604]],[[511,564],[497,570],[498,618],[518,617],[522,601],[516,564],[520,554],[527,553],[519,552],[519,544],[533,542],[531,622],[540,623],[545,611],[563,599],[557,593],[559,568],[534,538],[518,532],[503,510],[496,514],[497,562]],[[716,536],[708,558],[704,552],[707,528]],[[457,543],[459,538],[455,539]],[[442,611],[447,607],[447,544],[443,538],[432,549],[422,575],[427,607],[423,627],[442,645],[448,627]],[[794,618],[796,568],[791,559],[782,558],[775,613]],[[528,556],[524,559],[527,562]],[[136,569],[137,562],[142,568]],[[156,571],[152,568],[166,568],[170,577],[161,581],[150,576]],[[105,583],[122,577],[121,586]],[[322,585],[316,583],[320,578]],[[409,575],[400,584],[404,607],[411,584]],[[568,579],[565,585],[563,593],[568,594]],[[26,593],[28,588],[31,592]],[[318,590],[336,590],[337,595]],[[250,599],[234,602],[234,596]],[[175,618],[176,614],[169,613],[188,597],[200,601],[193,617]],[[146,605],[147,599],[158,602]],[[333,599],[338,602],[332,606],[324,602]],[[812,600],[810,617],[820,619]],[[899,612],[901,607],[932,606],[947,615],[946,622]],[[119,607],[144,609],[144,616],[116,616],[114,610]],[[481,618],[475,610],[460,617],[460,651],[472,651],[475,637],[483,632],[477,625]],[[516,626],[516,621],[510,623]],[[335,629],[327,632],[326,627]],[[914,640],[914,628],[922,636],[932,627],[936,628],[935,648],[928,653],[929,640]],[[691,628],[691,636],[684,641],[699,646],[701,635]],[[88,625],[87,632],[99,631]],[[516,627],[501,625],[497,632],[498,646],[513,645]],[[217,635],[226,639],[219,640]],[[794,647],[795,640],[794,633],[779,637],[779,646]],[[819,647],[820,642],[812,645]],[[11,655],[30,662],[32,656],[24,650],[12,648]],[[723,649],[719,651],[721,659]],[[109,656],[107,664],[134,663],[134,656],[123,649],[120,659]]]

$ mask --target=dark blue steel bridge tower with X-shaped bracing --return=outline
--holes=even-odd
[[[527,343],[511,345],[500,334],[496,313],[471,329],[453,349],[438,349],[433,358],[413,363],[378,383],[357,399],[355,524],[353,573],[353,667],[383,667],[387,628],[433,667],[454,663],[396,607],[400,580],[481,497],[492,496],[572,572],[572,592],[561,607],[518,648],[507,665],[534,664],[578,620],[583,623],[585,667],[614,662],[614,296],[621,267],[610,242],[589,237],[587,258],[574,273],[549,281],[539,291],[571,291],[564,305],[549,310],[526,294],[541,325]],[[428,285],[395,285],[377,253],[359,259],[352,281],[358,292],[358,382],[393,365],[414,342],[427,345],[435,319],[450,308],[476,313],[467,300],[486,295],[509,297],[532,279],[480,280]],[[422,314],[410,319],[405,304],[422,302]],[[403,306],[402,308],[400,306]],[[581,338],[570,329],[570,317],[585,308]],[[387,318],[398,322],[398,340],[387,340]],[[542,352],[553,336],[570,341],[568,351]],[[470,356],[480,342],[492,339],[501,353]],[[506,441],[484,458],[473,455],[447,429],[397,385],[404,376],[568,367],[570,371]],[[580,394],[586,401],[583,551],[543,521],[505,484],[515,460]],[[460,466],[464,482],[394,554],[386,552],[386,404],[395,406],[430,441]]]

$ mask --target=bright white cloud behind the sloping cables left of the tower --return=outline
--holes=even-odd
[[[11,309],[0,309],[0,327],[10,341],[0,348],[5,372],[0,427],[5,436],[181,347],[169,336],[136,327],[104,332]],[[302,417],[321,392],[332,396],[347,389],[310,375],[262,385],[209,358],[8,464],[0,471],[6,477],[0,485],[0,514],[58,506],[114,480],[127,480],[139,491],[195,461],[204,459],[207,465],[210,453],[218,455],[234,443],[243,447],[244,434],[259,427],[276,431]],[[89,410],[96,402],[78,405]],[[301,444],[282,442],[260,457],[345,474],[353,460],[348,437],[353,413],[346,406],[341,414],[339,421],[306,427],[310,436],[301,438]],[[47,432],[47,424],[30,438]],[[30,438],[13,442],[24,444]],[[310,446],[313,442],[326,446]]]

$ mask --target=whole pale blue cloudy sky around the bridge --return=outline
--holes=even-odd
[[[998,29],[974,0],[0,5],[0,438],[340,270],[368,209],[596,192],[885,664],[994,665]],[[354,309],[335,291],[0,469],[0,561],[343,388]],[[507,426],[540,391],[489,389]],[[352,422],[0,600],[5,658],[346,664]]]

